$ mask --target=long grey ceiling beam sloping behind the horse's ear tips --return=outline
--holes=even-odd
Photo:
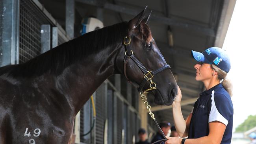
[[[137,11],[135,9],[130,9],[128,7],[123,7],[123,6],[118,6],[117,4],[111,4],[108,2],[105,2],[104,4],[100,4],[98,0],[76,0],[76,2],[81,2],[84,4],[88,4],[88,5],[92,5],[92,6],[96,6],[96,7],[102,7],[104,9],[108,9],[111,11],[116,11],[119,13],[125,13],[128,15],[137,15],[140,11]],[[194,30],[198,33],[202,33],[204,35],[208,35],[208,36],[212,36],[215,37],[215,31],[211,28],[206,28],[203,26],[198,26],[195,24],[188,24],[185,22],[178,22],[172,18],[167,18],[167,17],[163,17],[160,15],[155,15],[155,14],[151,14],[151,20],[156,20],[157,22],[161,22],[163,24],[167,24],[170,26],[178,26],[181,28],[185,28],[187,30]]]

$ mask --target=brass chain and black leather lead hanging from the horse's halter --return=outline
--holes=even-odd
[[[156,89],[156,88],[155,88]],[[142,99],[142,102],[144,103],[144,105],[146,106],[147,110],[148,110],[148,114],[151,116],[151,118],[153,119],[153,121],[155,122],[156,126],[158,127],[161,135],[163,135],[163,137],[165,138],[165,134],[163,133],[162,129],[160,128],[160,126],[158,125],[158,122],[156,121],[156,118],[155,118],[155,115],[151,112],[150,108],[151,106],[148,104],[148,99],[147,99],[147,96],[145,94],[147,94],[148,92],[147,91],[144,91],[144,92],[139,92],[139,94],[141,95],[141,99]],[[161,140],[158,140],[156,142],[153,142],[152,144],[155,144],[157,142],[165,142],[167,140],[167,138],[165,139],[161,139]]]

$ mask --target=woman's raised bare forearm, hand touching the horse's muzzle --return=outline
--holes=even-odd
[[[175,98],[175,101],[173,102],[174,125],[180,137],[187,137],[188,127],[190,124],[192,114],[189,114],[187,119],[184,120],[181,112],[181,106],[180,106],[181,98],[182,98],[182,94],[181,94],[180,88],[178,87],[178,94]]]

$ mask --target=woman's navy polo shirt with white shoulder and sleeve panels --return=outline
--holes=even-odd
[[[194,104],[188,138],[200,138],[209,135],[208,123],[219,121],[226,125],[221,144],[230,144],[233,113],[230,95],[221,83],[202,92]]]

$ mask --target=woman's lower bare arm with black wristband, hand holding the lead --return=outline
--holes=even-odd
[[[224,135],[226,125],[214,121],[209,123],[209,135],[200,138],[188,138],[185,144],[220,144]],[[181,144],[182,138],[166,137],[168,140],[165,144]]]

